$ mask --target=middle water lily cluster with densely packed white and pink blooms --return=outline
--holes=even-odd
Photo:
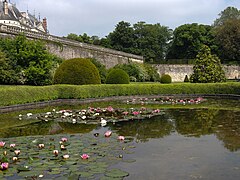
[[[164,114],[164,111],[160,109],[150,109],[146,107],[142,108],[113,108],[112,106],[106,108],[94,108],[89,107],[81,110],[60,110],[53,109],[51,112],[41,114],[19,115],[19,119],[36,118],[42,121],[54,120],[57,122],[71,122],[71,123],[86,123],[96,124],[99,123],[102,126],[107,125],[109,122],[126,121],[126,120],[138,120],[151,118],[152,116]]]

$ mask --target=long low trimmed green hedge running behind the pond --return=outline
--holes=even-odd
[[[25,104],[55,99],[86,99],[110,96],[160,94],[235,94],[240,95],[240,83],[208,84],[103,84],[53,86],[0,86],[0,106]]]

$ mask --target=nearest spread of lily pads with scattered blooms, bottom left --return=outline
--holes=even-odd
[[[108,175],[107,167],[114,161],[123,160],[129,143],[124,136],[111,130],[84,135],[5,139],[0,141],[0,179],[5,176],[51,179],[66,172],[66,179],[71,173],[81,174],[81,177]]]

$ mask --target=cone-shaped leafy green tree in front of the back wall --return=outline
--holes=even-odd
[[[190,81],[193,83],[216,83],[226,81],[220,59],[212,55],[207,46],[203,46],[196,57]]]

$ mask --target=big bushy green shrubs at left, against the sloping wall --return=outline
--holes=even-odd
[[[40,41],[27,40],[19,35],[15,39],[0,39],[0,50],[4,75],[2,84],[49,85],[52,84],[53,71],[61,59],[48,53]]]

